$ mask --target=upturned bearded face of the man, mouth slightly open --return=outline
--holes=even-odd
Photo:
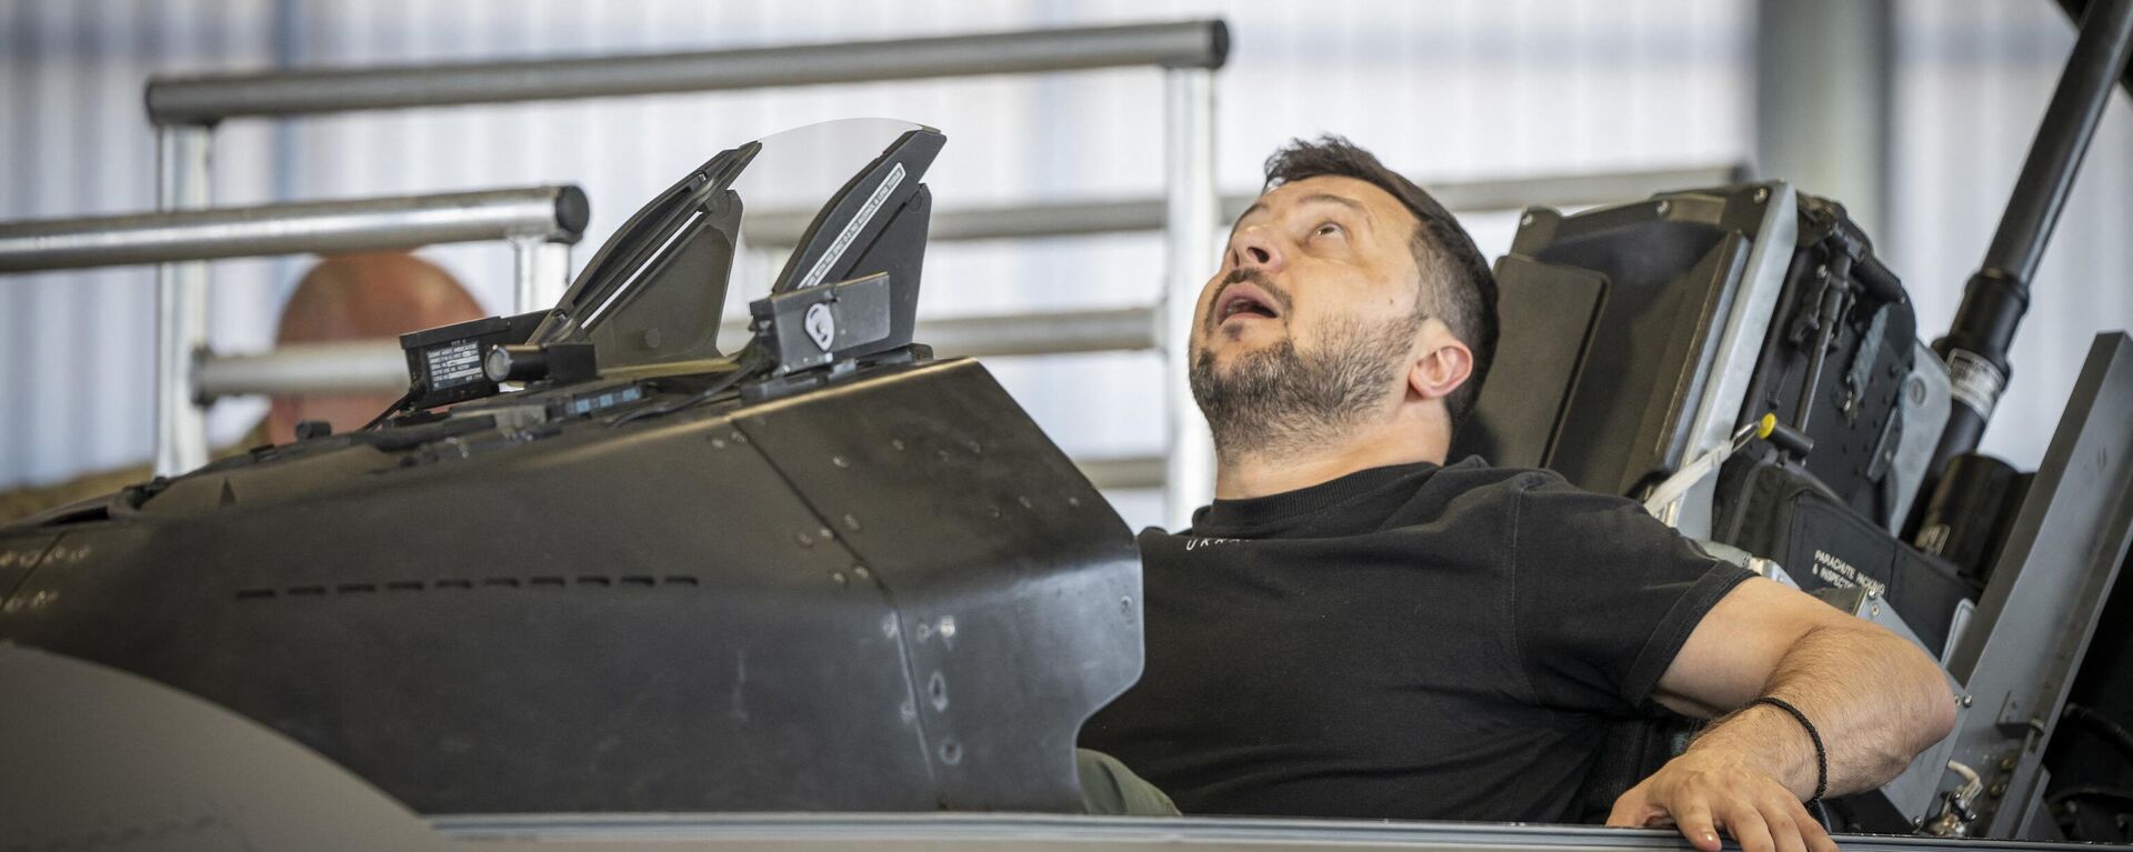
[[[1310,440],[1397,399],[1423,316],[1416,220],[1354,177],[1246,209],[1192,318],[1192,395],[1218,448]]]

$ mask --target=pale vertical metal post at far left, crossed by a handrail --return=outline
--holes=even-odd
[[[207,126],[156,128],[156,207],[209,203]],[[194,401],[192,359],[207,346],[207,263],[156,267],[156,474],[177,476],[207,463],[207,414]]]

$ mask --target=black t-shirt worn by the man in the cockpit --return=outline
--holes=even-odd
[[[1148,666],[1081,728],[1186,814],[1568,820],[1610,720],[1745,570],[1465,459],[1141,532]]]

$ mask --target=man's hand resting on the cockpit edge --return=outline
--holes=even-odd
[[[1615,799],[1610,826],[1674,826],[1702,852],[1719,831],[1745,852],[1837,852],[1800,796],[1762,767],[1726,750],[1691,747]]]

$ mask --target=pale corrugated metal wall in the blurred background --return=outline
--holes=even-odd
[[[1894,199],[1886,254],[1926,329],[1977,263],[2071,30],[2043,0],[1903,2]],[[1416,175],[1482,177],[1747,160],[1751,9],[1743,0],[1261,4],[1024,2],[36,2],[0,0],[0,218],[147,209],[149,73],[369,64],[883,38],[1026,26],[1222,15],[1235,32],[1218,83],[1218,175],[1256,186],[1297,135],[1344,132]],[[574,182],[593,196],[582,263],[629,209],[719,147],[787,126],[896,115],[949,149],[941,207],[979,201],[1145,196],[1160,190],[1154,70],[659,96],[230,122],[218,130],[220,203]],[[2033,463],[2101,325],[2133,325],[2116,282],[2129,220],[2127,115],[2114,107],[2046,258],[2016,350],[2014,395],[1990,446]],[[1472,222],[1485,250],[1510,218]],[[499,246],[429,252],[506,310]],[[215,265],[215,344],[262,348],[303,258]],[[1209,267],[1214,258],[1209,258]],[[1145,303],[1156,237],[943,243],[921,310],[934,316]],[[0,485],[41,483],[147,455],[147,269],[0,280]],[[2082,288],[2080,295],[2073,290]],[[994,372],[1069,448],[1160,444],[1154,354],[1003,359]],[[235,436],[258,406],[224,404]],[[2041,423],[2041,425],[2039,425]],[[1120,495],[1133,519],[1145,495]]]

